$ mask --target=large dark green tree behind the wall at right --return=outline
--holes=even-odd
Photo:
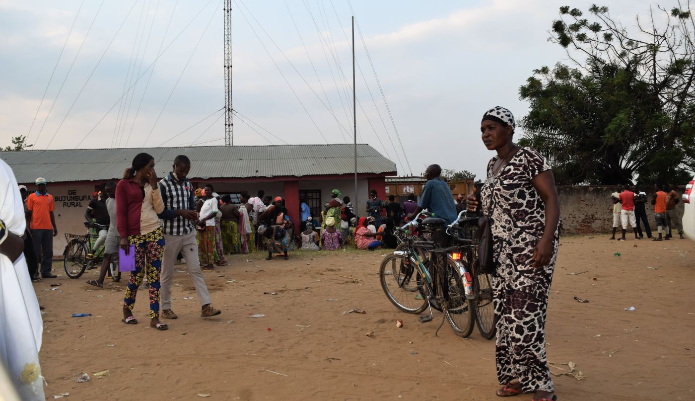
[[[559,9],[550,41],[570,65],[534,70],[521,143],[550,159],[561,184],[682,182],[695,170],[695,20],[657,6],[628,33],[591,6]],[[662,21],[662,22],[660,22]],[[576,56],[580,54],[584,62]]]

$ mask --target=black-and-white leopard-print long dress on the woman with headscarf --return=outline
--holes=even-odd
[[[481,189],[483,213],[491,217],[495,306],[496,365],[500,384],[519,379],[525,393],[553,391],[546,361],[546,309],[557,258],[532,267],[533,249],[546,224],[545,205],[531,180],[550,170],[543,155],[531,148],[518,150],[496,175],[493,157]]]

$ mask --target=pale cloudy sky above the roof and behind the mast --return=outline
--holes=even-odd
[[[266,138],[235,116],[235,145],[352,143],[352,5],[358,141],[400,175],[439,163],[482,178],[482,113],[523,118],[519,86],[566,59],[548,42],[559,6],[591,4],[350,1],[233,2],[234,109]],[[632,31],[655,3],[599,4]],[[0,0],[0,36],[1,146],[20,134],[39,149],[224,144],[220,0]]]

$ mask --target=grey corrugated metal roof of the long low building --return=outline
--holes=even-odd
[[[177,155],[191,162],[189,178],[249,178],[354,173],[354,148],[348,144],[277,146],[193,146],[188,148],[123,148],[23,150],[0,152],[17,182],[37,177],[49,182],[99,181],[120,178],[140,152],[154,157],[163,176]],[[357,145],[357,172],[395,175],[395,163],[366,144]]]

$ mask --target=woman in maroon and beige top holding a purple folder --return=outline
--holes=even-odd
[[[147,274],[149,283],[149,325],[166,330],[159,322],[159,274],[162,269],[164,236],[157,217],[164,211],[157,175],[154,173],[154,157],[147,153],[138,154],[131,167],[126,168],[123,179],[116,186],[116,219],[121,237],[120,246],[126,253],[135,245],[135,270],[126,288],[123,299],[123,322],[137,324],[133,317],[133,306],[138,285]]]

